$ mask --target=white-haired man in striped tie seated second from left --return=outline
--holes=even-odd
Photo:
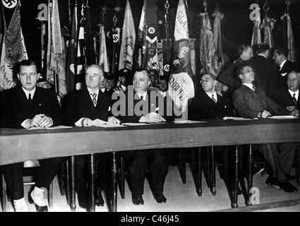
[[[64,124],[67,126],[99,126],[109,120],[116,121],[110,113],[111,102],[108,93],[102,92],[100,84],[104,81],[102,68],[92,64],[85,69],[85,85],[83,90],[71,93],[64,110]],[[104,88],[105,89],[105,88]],[[78,203],[86,208],[87,181],[86,165],[88,155],[76,156],[76,191]],[[97,155],[100,158],[100,167],[97,174],[96,205],[103,206],[102,190],[105,186],[108,154]]]

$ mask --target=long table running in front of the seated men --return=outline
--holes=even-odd
[[[0,165],[49,157],[112,152],[112,210],[116,210],[118,151],[299,142],[299,128],[300,119],[215,119],[193,124],[168,123],[116,128],[0,129]],[[236,207],[236,203],[237,195],[232,206]]]

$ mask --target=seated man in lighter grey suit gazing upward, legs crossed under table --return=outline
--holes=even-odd
[[[284,107],[277,105],[265,95],[263,90],[253,86],[254,71],[248,64],[242,65],[238,70],[241,79],[241,87],[234,91],[232,100],[234,107],[241,117],[245,118],[267,118],[272,115],[294,115],[299,116],[299,111],[294,109],[289,112]],[[276,189],[287,192],[296,191],[289,182],[289,173],[294,160],[295,143],[279,143],[260,145],[265,160],[272,168],[272,175],[266,183]]]

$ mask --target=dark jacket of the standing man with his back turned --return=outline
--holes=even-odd
[[[282,76],[275,64],[263,56],[253,57],[247,62],[256,70],[256,81],[254,81],[254,85],[264,90],[268,97],[272,97],[272,95],[282,88]]]

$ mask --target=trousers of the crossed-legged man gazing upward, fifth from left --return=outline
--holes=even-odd
[[[273,177],[277,177],[280,182],[287,180],[290,174],[296,143],[268,143],[260,145],[260,150],[265,156],[268,164],[272,168]]]

